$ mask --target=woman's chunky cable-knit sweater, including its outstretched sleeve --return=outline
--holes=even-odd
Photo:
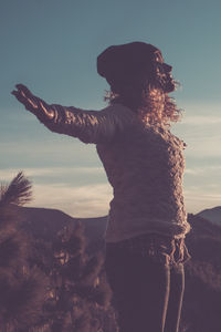
[[[144,234],[183,238],[190,230],[182,195],[185,143],[160,125],[141,122],[119,104],[102,111],[49,105],[40,118],[52,132],[94,143],[113,186],[107,242]]]

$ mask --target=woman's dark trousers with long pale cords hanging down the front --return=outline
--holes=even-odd
[[[178,332],[185,290],[182,243],[146,236],[106,245],[105,268],[120,332]]]

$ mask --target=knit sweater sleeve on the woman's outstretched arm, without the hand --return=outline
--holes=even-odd
[[[48,105],[52,120],[39,120],[52,132],[80,138],[84,143],[105,143],[112,141],[117,132],[130,126],[135,113],[120,104],[102,111],[84,111],[73,106]]]

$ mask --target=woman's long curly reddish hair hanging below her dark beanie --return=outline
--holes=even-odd
[[[179,85],[176,82],[176,85]],[[176,105],[175,98],[156,87],[148,81],[134,81],[133,84],[112,84],[104,97],[109,104],[123,104],[138,114],[140,120],[152,125],[170,127],[171,122],[181,118],[182,110]]]

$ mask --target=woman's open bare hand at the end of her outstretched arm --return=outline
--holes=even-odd
[[[49,105],[41,98],[34,96],[29,89],[23,84],[17,84],[17,90],[11,93],[17,97],[17,100],[24,105],[24,107],[33,113],[34,115],[46,118],[54,117],[54,111],[50,110]]]

